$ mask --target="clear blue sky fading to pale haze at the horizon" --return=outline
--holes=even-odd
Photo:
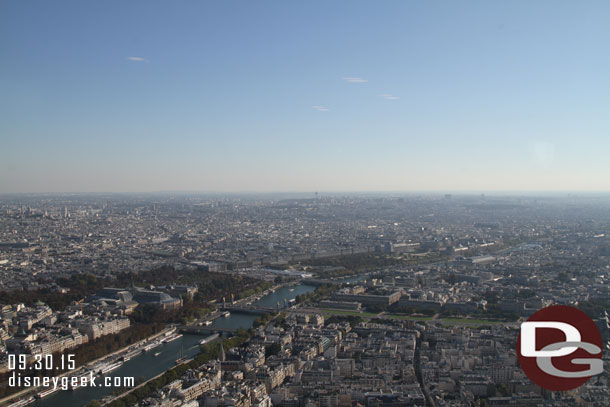
[[[607,1],[0,2],[0,193],[609,191]]]

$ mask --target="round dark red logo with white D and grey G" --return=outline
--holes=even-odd
[[[575,389],[604,370],[597,326],[565,305],[543,308],[521,324],[517,355],[527,377],[552,391]]]

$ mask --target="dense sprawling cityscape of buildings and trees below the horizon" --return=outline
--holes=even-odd
[[[521,321],[572,305],[608,363],[609,209],[567,194],[5,196],[2,401],[85,390],[11,389],[11,354],[75,353],[58,374],[104,376],[188,339],[158,374],[81,405],[607,406],[607,368],[551,392],[515,349]]]

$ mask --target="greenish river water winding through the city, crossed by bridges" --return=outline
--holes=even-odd
[[[297,295],[314,289],[315,287],[308,285],[282,287],[276,292],[262,297],[255,304],[276,307],[279,302],[280,308],[284,308],[284,299],[287,302]],[[229,317],[216,319],[210,327],[248,329],[256,318],[256,315],[232,313]],[[199,341],[202,338],[203,336],[198,335],[184,335],[173,342],[161,344],[157,348],[133,357],[108,375],[111,377],[134,377],[136,382],[138,379],[148,380],[173,367],[179,353],[184,354],[187,358],[195,356],[199,352]],[[156,353],[159,355],[155,356]],[[96,384],[98,386],[99,383],[102,382],[97,379]],[[114,389],[114,387],[85,387],[74,391],[60,390],[42,400],[37,400],[33,405],[37,407],[82,407],[92,400],[101,399],[111,394]]]

